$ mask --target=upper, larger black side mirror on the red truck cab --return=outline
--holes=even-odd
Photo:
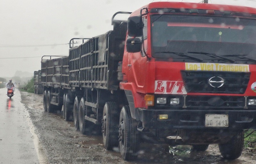
[[[141,16],[134,16],[128,18],[128,36],[141,37],[143,35],[143,23]]]

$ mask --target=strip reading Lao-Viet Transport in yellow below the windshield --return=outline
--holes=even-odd
[[[250,72],[247,64],[185,63],[186,70]]]

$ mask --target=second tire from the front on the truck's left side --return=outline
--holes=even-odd
[[[115,102],[105,103],[102,118],[103,144],[107,150],[118,146],[118,112]]]

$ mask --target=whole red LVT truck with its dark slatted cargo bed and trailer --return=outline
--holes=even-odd
[[[101,130],[125,160],[142,141],[219,144],[225,159],[238,158],[243,129],[256,127],[256,9],[153,2],[116,14],[112,31],[42,58],[45,111],[63,105],[76,130]]]

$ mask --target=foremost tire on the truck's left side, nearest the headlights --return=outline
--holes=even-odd
[[[137,157],[139,136],[136,120],[132,118],[128,105],[123,106],[119,120],[119,147],[124,160]]]

